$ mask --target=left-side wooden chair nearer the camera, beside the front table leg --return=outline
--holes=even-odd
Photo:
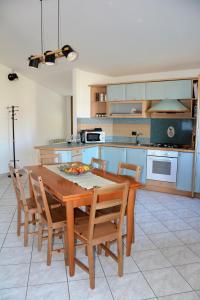
[[[52,252],[64,252],[65,264],[67,264],[67,248],[53,249],[53,237],[56,235],[61,236],[66,232],[65,207],[59,206],[50,209],[42,178],[31,173],[30,180],[39,212],[38,250],[40,251],[42,248],[42,240],[47,239],[47,265],[51,265]],[[75,209],[74,215],[75,218],[82,217],[85,216],[85,213],[80,209]],[[47,228],[47,236],[43,236],[45,227]],[[66,234],[64,234],[64,238],[67,238]],[[64,241],[64,245],[67,245],[66,240]]]

